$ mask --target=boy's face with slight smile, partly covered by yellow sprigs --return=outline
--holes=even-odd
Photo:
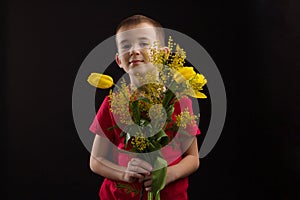
[[[142,23],[129,28],[121,28],[116,35],[118,53],[116,62],[129,75],[143,75],[155,67],[148,60],[148,51],[157,41],[155,27]]]

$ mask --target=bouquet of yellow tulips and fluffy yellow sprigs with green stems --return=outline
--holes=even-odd
[[[141,158],[157,169],[152,173],[152,190],[148,192],[148,200],[153,197],[159,200],[160,191],[165,186],[168,164],[161,149],[172,140],[166,134],[166,129],[178,130],[189,124],[195,125],[198,118],[184,110],[174,122],[172,115],[175,103],[183,96],[206,98],[201,90],[207,80],[192,66],[184,66],[186,53],[171,37],[168,49],[165,51],[159,42],[152,45],[148,59],[156,66],[158,78],[146,75],[146,79],[141,78],[141,82],[147,80],[146,83],[135,90],[124,79],[118,85],[105,74],[91,73],[88,77],[88,82],[97,88],[116,86],[116,90],[111,90],[109,94],[111,111],[117,122],[116,127],[111,129],[120,128],[120,137],[125,137],[126,150],[140,153]],[[155,156],[149,156],[149,153],[155,153]]]

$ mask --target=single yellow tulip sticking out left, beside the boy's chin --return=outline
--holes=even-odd
[[[91,73],[87,79],[89,84],[100,89],[107,89],[114,85],[112,77],[99,73]]]

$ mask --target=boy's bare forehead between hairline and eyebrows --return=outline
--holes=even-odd
[[[123,41],[134,41],[137,39],[156,40],[156,28],[147,23],[121,28],[116,34],[117,43]]]

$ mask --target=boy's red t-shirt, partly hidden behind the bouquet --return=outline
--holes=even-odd
[[[193,114],[192,101],[188,97],[183,97],[178,100],[178,102],[175,103],[174,108],[175,109],[172,115],[174,121],[176,116],[186,108],[191,114]],[[125,145],[124,137],[120,137],[121,129],[116,128],[107,130],[115,125],[116,122],[110,110],[109,97],[107,96],[101,104],[101,107],[90,126],[90,131],[100,136],[107,137],[117,147],[113,148],[113,162],[120,166],[126,167],[132,157],[126,153],[123,153],[125,150]],[[196,124],[193,126],[187,126],[185,130],[188,131],[190,135],[195,136],[200,134],[200,130]],[[167,160],[168,166],[171,166],[181,161],[182,154],[186,149],[182,149],[182,142],[179,142],[184,140],[180,133],[176,133],[175,135],[172,131],[166,131],[166,133],[173,139],[168,145],[161,149],[161,152],[164,158]],[[186,144],[184,146],[186,146]],[[121,152],[118,150],[123,151]],[[188,199],[187,188],[188,178],[186,177],[178,179],[166,185],[165,188],[160,192],[160,197],[162,200],[186,200]],[[105,178],[99,191],[99,197],[101,200],[139,200],[141,189],[142,184],[138,182],[129,184]],[[147,199],[147,192],[144,192],[143,199]]]

